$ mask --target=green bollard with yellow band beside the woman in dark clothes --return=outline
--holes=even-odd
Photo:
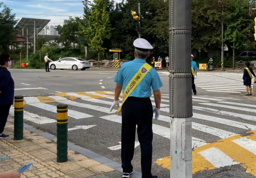
[[[23,96],[14,97],[14,140],[23,139]]]

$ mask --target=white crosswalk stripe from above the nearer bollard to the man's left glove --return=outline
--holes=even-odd
[[[61,99],[61,98],[58,98],[58,99]],[[110,112],[110,108],[105,108],[105,107],[102,107],[102,106],[95,106],[95,105],[85,104],[85,103],[78,103],[76,101],[64,100],[64,99],[65,98],[63,98],[63,100],[57,100],[57,101],[59,103],[64,103],[64,104],[73,105],[73,106],[79,106],[79,107],[82,107],[82,108],[93,109],[93,110],[100,111],[100,112],[105,112],[105,113],[114,113],[114,112],[116,112],[116,109],[113,109],[113,111]]]

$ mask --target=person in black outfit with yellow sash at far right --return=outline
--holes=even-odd
[[[250,67],[250,63],[246,62],[245,63],[245,68],[244,68],[244,75],[243,75],[243,82],[246,88],[246,96],[251,96],[252,95],[252,78],[253,76],[255,77],[255,74],[253,72],[253,69]],[[250,94],[249,94],[249,89],[250,89]]]

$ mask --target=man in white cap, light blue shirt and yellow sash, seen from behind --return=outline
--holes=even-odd
[[[134,156],[134,143],[137,125],[138,139],[141,151],[141,169],[143,178],[157,178],[151,174],[152,166],[152,118],[155,112],[157,120],[160,114],[161,92],[163,86],[156,70],[146,63],[153,49],[143,38],[134,41],[135,52],[133,61],[123,63],[114,81],[116,82],[115,99],[110,108],[119,106],[119,95],[123,91],[122,104],[116,113],[122,109],[121,159],[123,178],[129,178],[133,173],[131,161]],[[151,103],[151,88],[154,93],[155,108]]]

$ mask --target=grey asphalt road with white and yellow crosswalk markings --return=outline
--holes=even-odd
[[[26,112],[38,115],[39,118],[44,116],[55,120],[56,113],[54,106],[60,103],[67,103],[69,105],[70,114],[71,110],[74,111],[74,115],[69,115],[68,117],[68,128],[96,125],[89,129],[74,129],[68,131],[68,140],[96,152],[99,155],[121,163],[121,149],[113,149],[113,146],[120,145],[118,142],[121,141],[121,123],[117,121],[121,116],[119,114],[118,117],[115,116],[114,113],[107,112],[107,109],[111,106],[110,103],[113,102],[113,98],[111,98],[113,94],[111,94],[111,91],[113,92],[115,89],[113,78],[117,71],[54,70],[45,72],[44,70],[35,69],[10,69],[10,72],[12,73],[12,78],[15,80],[15,95],[23,95],[26,97],[26,104],[24,105]],[[169,108],[167,101],[169,100],[169,78],[168,72],[164,70],[158,72],[164,84],[161,88],[161,93],[163,94],[162,99],[164,100],[162,103],[165,105],[162,106],[163,110],[160,112],[162,119],[158,121],[153,120],[153,124],[161,126],[163,130],[170,128],[169,122],[166,121],[166,118],[169,116],[167,111]],[[214,154],[214,150],[211,150],[211,146],[207,144],[223,139],[222,142],[229,145],[230,140],[227,140],[227,138],[231,138],[232,136],[236,137],[237,135],[247,136],[249,135],[247,133],[248,131],[256,130],[254,129],[254,126],[256,128],[256,109],[253,110],[253,106],[250,106],[255,103],[255,100],[249,100],[244,97],[244,86],[241,83],[241,74],[198,72],[198,78],[195,82],[196,85],[200,87],[197,86],[198,95],[196,97],[193,96],[194,118],[192,121],[194,125],[192,137],[199,139],[201,142],[199,144],[196,142],[197,144],[194,145],[193,152],[195,155],[201,155],[202,164],[206,159],[207,165],[209,166],[206,165],[204,168],[197,169],[196,167],[198,167],[200,163],[193,164],[193,171],[195,172],[193,177],[254,177],[253,174],[247,173],[248,170],[246,167],[250,167],[250,162],[248,163],[247,161],[245,163],[239,161],[232,155],[229,148],[222,149],[221,145],[216,145],[216,148],[224,152],[225,155],[231,159],[229,163],[227,162],[230,161],[230,159],[227,158],[220,164],[218,159],[214,160],[209,157],[209,153]],[[102,93],[105,93],[105,95],[109,93],[110,96],[105,97]],[[54,100],[50,98],[51,96],[62,97],[66,100],[62,99],[57,102],[56,98]],[[104,110],[104,108],[106,110]],[[248,109],[244,110],[243,108]],[[79,114],[81,114],[80,118],[78,118]],[[114,121],[112,118],[115,117],[118,118]],[[29,120],[29,118],[25,119],[24,122],[44,129],[51,134],[56,134],[55,122],[38,124],[31,119]],[[168,137],[163,137],[158,133],[162,130],[156,129],[154,132],[152,174],[158,175],[160,178],[169,178],[170,171],[168,169],[168,163],[163,164],[161,161],[165,159],[168,160],[168,156],[170,155],[170,140]],[[138,141],[137,138],[136,141]],[[253,151],[250,150],[250,152]],[[207,153],[209,158],[207,157]],[[256,152],[254,154],[256,154]],[[235,162],[237,162],[237,164],[233,164]],[[141,172],[140,146],[135,148],[132,163],[134,169]],[[214,166],[213,169],[212,165]],[[254,170],[254,168],[251,169]]]

